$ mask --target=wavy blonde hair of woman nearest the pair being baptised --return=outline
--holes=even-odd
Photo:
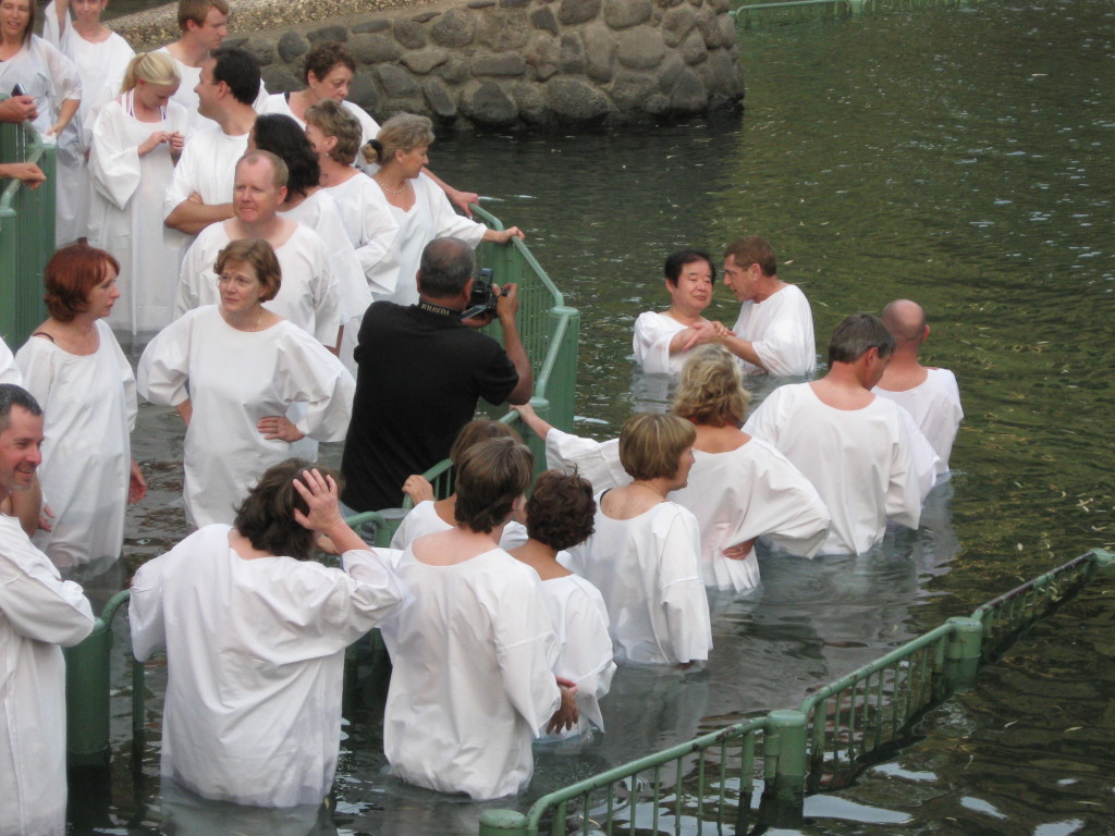
[[[724,346],[700,346],[681,369],[673,414],[711,427],[739,426],[750,395],[739,363]]]

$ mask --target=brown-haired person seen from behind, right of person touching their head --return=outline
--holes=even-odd
[[[474,799],[517,793],[534,769],[531,740],[578,720],[575,687],[553,674],[537,575],[496,545],[530,479],[523,445],[474,445],[457,463],[459,524],[399,561],[413,600],[381,628],[394,665],[384,751],[405,781]]]

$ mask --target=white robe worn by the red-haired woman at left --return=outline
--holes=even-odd
[[[31,337],[17,356],[26,389],[42,407],[39,483],[55,515],[51,531],[37,532],[35,543],[59,568],[107,566],[124,545],[135,377],[104,320],[97,337],[91,354]]]

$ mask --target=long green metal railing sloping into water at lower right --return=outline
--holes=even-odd
[[[525,815],[488,810],[481,818],[479,834],[537,836],[546,832],[546,823],[549,833],[555,835],[660,833],[663,810],[670,816],[668,829],[673,833],[741,834],[750,815],[753,786],[745,772],[756,774],[758,760],[764,780],[762,819],[776,827],[797,827],[806,790],[845,786],[869,758],[879,759],[904,742],[929,708],[975,684],[980,663],[993,661],[1005,647],[1001,638],[986,640],[987,625],[993,625],[995,635],[1012,640],[1101,572],[1113,568],[1115,554],[1093,550],[983,604],[971,618],[949,619],[825,686],[796,710],[772,711],[762,720],[615,767],[540,798]],[[750,739],[730,776],[740,791],[724,793],[715,780],[718,774],[714,770],[711,781],[708,776],[709,765],[719,768],[728,761],[715,752],[714,745],[745,730]],[[711,756],[701,755],[708,750],[712,750]],[[691,762],[695,755],[697,760]],[[648,780],[640,788],[638,803],[614,813],[613,797],[630,793],[631,781],[650,770],[658,781],[669,776],[668,786],[676,789],[662,793]],[[709,788],[716,793],[715,803],[707,800]],[[683,789],[687,791],[681,797]],[[602,796],[598,799],[594,794]],[[734,825],[729,828],[725,823]]]

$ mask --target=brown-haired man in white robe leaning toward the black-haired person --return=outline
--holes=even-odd
[[[777,271],[774,250],[758,235],[728,245],[724,283],[743,304],[731,334],[720,343],[739,358],[747,375],[813,375],[817,354],[809,302]]]

